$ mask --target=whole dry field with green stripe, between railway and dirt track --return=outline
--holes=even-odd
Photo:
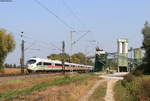
[[[77,101],[100,78],[94,74],[46,75],[1,82],[0,100],[6,101]],[[104,83],[105,84],[105,83]],[[99,86],[99,88],[105,88]],[[101,91],[98,89],[98,91]],[[103,89],[101,92],[105,92]],[[97,97],[97,91],[91,96]]]

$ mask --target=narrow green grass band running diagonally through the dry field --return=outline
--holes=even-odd
[[[44,89],[44,88],[47,88],[47,87],[53,86],[53,85],[69,84],[72,82],[83,80],[85,78],[88,78],[89,76],[90,76],[90,74],[82,74],[82,75],[76,75],[76,76],[65,76],[62,78],[57,78],[53,81],[46,81],[46,82],[34,85],[32,87],[10,90],[10,91],[1,93],[0,99],[10,100],[13,97],[18,96],[18,95],[30,94],[33,91],[38,91],[38,90],[41,90],[41,89]]]

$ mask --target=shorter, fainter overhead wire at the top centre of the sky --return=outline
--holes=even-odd
[[[74,18],[81,24],[81,25],[85,25],[84,23],[81,22],[80,18],[75,14],[75,12],[71,9],[71,7],[66,3],[65,0],[62,0],[64,6],[70,11],[70,13],[72,13],[72,15],[74,16]]]

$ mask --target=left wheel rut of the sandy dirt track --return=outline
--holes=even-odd
[[[96,84],[89,90],[89,92],[83,96],[81,99],[79,99],[79,101],[88,101],[89,97],[94,93],[94,91],[96,90],[96,88],[102,84],[102,82],[104,82],[105,80],[98,80],[96,82]]]

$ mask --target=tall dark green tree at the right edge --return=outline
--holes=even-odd
[[[140,65],[136,71],[142,70],[145,74],[150,74],[150,25],[147,21],[145,22],[142,34],[144,37],[142,48],[145,50],[145,57],[143,64]]]

